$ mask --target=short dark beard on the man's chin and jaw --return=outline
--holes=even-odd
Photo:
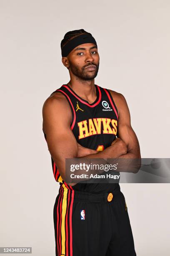
[[[78,66],[74,66],[74,65],[72,65],[72,63],[70,63],[70,70],[71,70],[72,74],[74,74],[76,77],[80,78],[81,80],[90,81],[97,76],[97,73],[99,70],[99,64],[96,65],[96,64],[92,63],[92,65],[96,66],[95,71],[92,71],[92,72],[87,71],[87,69],[85,69],[85,67],[79,68]],[[88,65],[88,66],[90,66],[90,65]]]

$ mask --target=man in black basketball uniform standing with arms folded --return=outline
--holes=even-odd
[[[60,182],[54,205],[56,256],[135,256],[119,183],[65,182],[66,158],[140,159],[127,102],[95,84],[99,54],[90,33],[66,33],[61,51],[70,81],[52,92],[42,108],[53,174]]]

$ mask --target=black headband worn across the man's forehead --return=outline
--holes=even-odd
[[[78,46],[80,44],[87,44],[87,43],[95,44],[97,47],[95,38],[92,37],[92,35],[90,35],[90,34],[81,34],[80,36],[76,36],[76,37],[72,38],[62,48],[62,50],[61,50],[62,57],[67,57],[67,55],[70,53],[70,51],[72,51],[76,46]]]

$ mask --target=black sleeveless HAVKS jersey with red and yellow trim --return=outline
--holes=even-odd
[[[86,148],[102,151],[110,146],[116,138],[118,132],[118,112],[109,90],[98,85],[95,85],[95,87],[97,98],[93,103],[83,100],[67,84],[63,84],[54,92],[62,93],[70,105],[72,111],[70,128],[77,142]],[[46,140],[45,133],[44,136]],[[53,161],[52,157],[51,161],[55,180],[67,189],[105,193],[119,187],[118,183],[77,183],[74,186],[69,186],[62,179],[57,169],[57,163]]]

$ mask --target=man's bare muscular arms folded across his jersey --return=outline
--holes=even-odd
[[[60,175],[65,179],[66,158],[140,158],[140,148],[130,125],[130,113],[123,95],[119,95],[118,137],[103,151],[80,146],[70,129],[72,113],[65,97],[56,92],[47,98],[42,107],[43,131],[52,159],[57,163]],[[68,185],[73,186],[75,183]]]

